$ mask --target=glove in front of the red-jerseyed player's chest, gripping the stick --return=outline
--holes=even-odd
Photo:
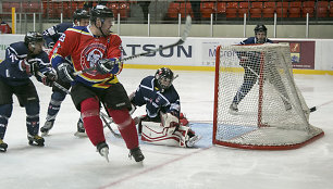
[[[102,59],[97,61],[96,71],[100,74],[118,74],[123,62],[118,58]]]

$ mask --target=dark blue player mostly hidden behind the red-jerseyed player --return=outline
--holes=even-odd
[[[49,29],[44,32],[44,37],[47,41],[47,45],[49,48],[53,48],[54,43],[58,41],[60,36],[70,27],[74,26],[87,26],[89,25],[89,13],[86,10],[78,9],[74,12],[73,20],[74,23],[62,23],[59,25],[55,25],[53,27],[50,27]],[[66,89],[71,88],[70,83],[64,83],[61,79],[58,79],[57,83],[61,86],[63,86]],[[47,136],[50,131],[50,129],[54,125],[55,117],[60,111],[61,103],[66,97],[66,92],[63,90],[59,89],[58,87],[53,86],[52,87],[52,94],[51,94],[51,100],[49,102],[48,106],[48,113],[46,117],[46,123],[45,125],[40,128],[41,136]],[[77,131],[74,134],[77,137],[84,137],[86,136],[85,134],[85,128],[83,126],[82,118],[78,118],[77,122]]]

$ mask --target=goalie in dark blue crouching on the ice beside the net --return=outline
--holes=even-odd
[[[159,68],[155,76],[145,77],[130,96],[135,106],[146,104],[147,115],[135,117],[141,140],[164,146],[193,147],[200,137],[189,128],[181,113],[180,96],[172,85],[173,72]]]

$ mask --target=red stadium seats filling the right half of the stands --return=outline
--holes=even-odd
[[[244,13],[250,17],[333,17],[333,1],[201,1],[201,17],[210,17],[211,14],[225,14],[226,17],[244,17]],[[193,16],[189,2],[174,1],[168,9],[168,16],[175,18],[186,14]]]

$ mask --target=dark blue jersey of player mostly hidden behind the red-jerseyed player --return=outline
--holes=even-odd
[[[50,43],[54,46],[54,43],[59,40],[62,34],[70,27],[74,27],[73,23],[61,23],[55,26],[52,26],[46,29],[42,35],[48,48],[50,48]]]

